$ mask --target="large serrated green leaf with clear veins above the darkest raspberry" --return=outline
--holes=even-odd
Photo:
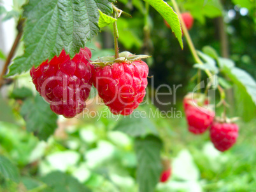
[[[8,76],[60,55],[73,58],[99,31],[99,11],[111,13],[111,0],[30,0],[24,6],[25,52],[10,65]]]

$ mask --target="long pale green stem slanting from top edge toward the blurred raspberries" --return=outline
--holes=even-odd
[[[171,0],[171,2],[173,3],[174,11],[177,13],[178,17],[180,18],[183,34],[184,34],[185,38],[187,39],[187,43],[188,43],[190,51],[191,51],[191,53],[194,57],[194,60],[196,61],[197,64],[203,65],[204,63],[202,62],[202,60],[197,55],[196,48],[195,48],[195,46],[192,42],[192,39],[190,38],[190,35],[188,33],[185,22],[183,21],[183,19],[181,17],[181,13],[180,13],[180,10],[178,8],[178,4],[176,3],[175,0]],[[209,70],[206,69],[205,72],[208,75],[208,77],[213,76],[213,74],[211,74],[211,72]],[[224,100],[225,99],[225,92],[224,92],[224,90],[222,89],[222,87],[220,85],[218,85],[218,91],[220,92],[221,99]]]

